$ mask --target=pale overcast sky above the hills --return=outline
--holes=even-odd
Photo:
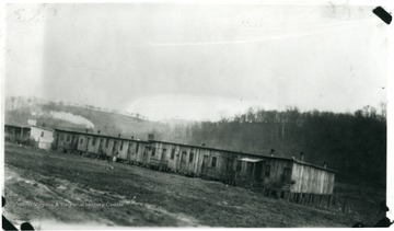
[[[378,106],[386,101],[387,26],[373,8],[9,5],[5,95],[152,119]]]

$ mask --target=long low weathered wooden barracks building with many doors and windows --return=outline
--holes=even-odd
[[[315,196],[331,200],[335,171],[306,163],[303,157],[257,155],[154,140],[127,139],[92,132],[55,129],[53,148],[63,152],[96,155],[114,161],[144,165],[160,171],[221,181],[227,184],[258,186],[266,194],[296,201]],[[329,203],[328,203],[329,205]]]

